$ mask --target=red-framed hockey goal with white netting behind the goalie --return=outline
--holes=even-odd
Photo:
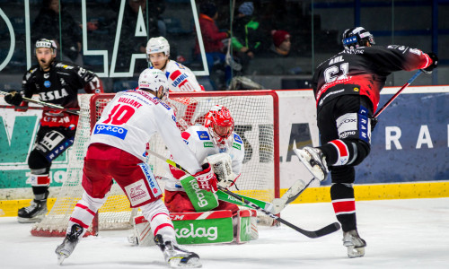
[[[82,178],[82,169],[83,169],[83,159],[80,158],[85,156],[85,152],[87,151],[87,145],[90,138],[90,133],[92,131],[92,127],[95,125],[96,121],[99,118],[99,110],[104,108],[104,104],[101,105],[101,100],[111,100],[114,98],[115,94],[113,93],[101,93],[101,94],[82,94],[80,95],[80,112],[81,116],[78,122],[78,128],[75,134],[75,143],[73,146],[73,150],[75,155],[77,156],[75,159],[70,160],[69,166],[67,168],[67,178],[66,181],[61,187],[61,192],[57,195],[57,202],[54,204],[48,216],[44,218],[43,221],[34,225],[31,230],[31,234],[33,236],[41,236],[41,237],[64,237],[66,235],[66,226],[70,217],[70,214],[73,212],[73,208],[79,199],[81,199],[80,193],[82,193],[81,187],[81,178]],[[255,195],[248,193],[246,191],[239,191],[236,189],[231,189],[233,192],[241,195],[252,196],[255,198],[259,198],[261,200],[269,200],[272,198],[279,197],[279,108],[278,108],[278,97],[276,91],[202,91],[202,92],[171,92],[169,96],[169,101],[172,100],[180,100],[180,103],[185,102],[186,107],[192,103],[192,100],[216,100],[212,101],[212,103],[220,103],[220,100],[225,99],[242,99],[242,98],[268,98],[271,103],[271,107],[269,108],[268,113],[272,113],[272,130],[271,127],[269,130],[269,134],[273,135],[272,139],[272,173],[273,173],[273,190],[270,194],[270,198],[266,198],[265,194],[261,194],[265,199],[260,198],[260,193],[256,193]],[[198,101],[199,103],[199,101]],[[99,105],[100,104],[100,105]],[[182,106],[182,105],[181,105]],[[225,105],[226,106],[226,105]],[[231,105],[233,106],[233,105]],[[172,107],[177,107],[174,104]],[[211,106],[209,106],[210,108]],[[177,108],[174,108],[175,111]],[[188,108],[189,109],[189,108]],[[236,109],[236,108],[235,108]],[[181,110],[181,109],[180,109]],[[199,108],[198,108],[199,110]],[[236,127],[238,126],[238,115],[233,113],[233,108],[230,108],[231,113],[233,114],[234,120],[236,122]],[[207,110],[208,111],[208,110]],[[101,112],[101,111],[100,111]],[[204,112],[204,111],[203,111]],[[182,121],[180,117],[178,117],[178,122]],[[189,124],[190,126],[192,124]],[[180,126],[182,130],[182,126]],[[236,132],[238,133],[238,132]],[[153,138],[152,138],[153,140]],[[157,138],[156,138],[157,141]],[[159,141],[162,141],[159,138]],[[150,145],[151,146],[151,145]],[[151,155],[147,158],[148,163],[152,164],[154,162],[159,162],[158,166],[161,166],[161,160],[156,161],[157,159]],[[154,170],[157,170],[154,167]],[[244,169],[243,169],[244,170]],[[242,170],[242,175],[243,171]],[[154,173],[156,178],[161,178],[161,175]],[[241,180],[239,178],[239,180]],[[237,180],[237,186],[239,183]],[[163,182],[158,180],[160,185]],[[76,193],[78,195],[72,195],[72,193]],[[261,190],[263,192],[263,190]],[[270,191],[271,192],[271,191]],[[110,202],[113,201],[113,202]],[[117,202],[119,201],[119,202]],[[268,201],[270,202],[270,201]],[[64,204],[64,205],[61,205]],[[62,207],[62,209],[61,209]],[[121,219],[125,221],[117,221],[117,213],[121,214]],[[120,229],[130,229],[132,228],[132,218],[136,215],[136,209],[131,209],[129,207],[128,198],[123,194],[121,189],[117,184],[113,184],[111,188],[111,192],[108,195],[108,200],[101,207],[94,220],[92,221],[92,225],[89,230],[86,232],[86,236],[88,235],[97,235],[99,230],[120,230]],[[115,218],[115,219],[114,219]],[[100,221],[99,221],[100,219]],[[62,223],[62,224],[61,224]],[[65,223],[65,224],[64,224]]]

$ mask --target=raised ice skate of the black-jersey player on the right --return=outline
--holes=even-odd
[[[320,149],[313,147],[304,147],[301,150],[294,149],[300,161],[302,161],[307,169],[313,174],[313,177],[318,180],[324,180],[329,174],[326,157],[322,154]]]

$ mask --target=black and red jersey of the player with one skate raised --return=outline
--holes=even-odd
[[[426,68],[431,64],[426,53],[401,45],[343,50],[318,65],[313,74],[317,109],[340,95],[359,94],[373,102],[375,111],[389,74]]]

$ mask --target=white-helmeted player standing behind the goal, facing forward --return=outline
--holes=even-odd
[[[157,37],[146,43],[146,56],[154,69],[162,70],[169,82],[169,91],[204,91],[189,67],[169,59],[170,44]]]

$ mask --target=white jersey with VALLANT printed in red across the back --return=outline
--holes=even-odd
[[[201,170],[176,126],[173,109],[146,91],[120,91],[101,113],[90,143],[104,143],[145,161],[146,143],[159,133],[174,160],[195,174]]]

